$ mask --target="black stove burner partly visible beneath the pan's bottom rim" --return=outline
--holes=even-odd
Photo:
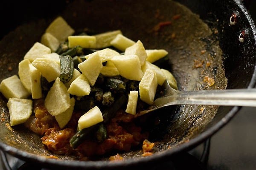
[[[200,158],[193,156],[191,153],[179,153],[174,159],[164,161],[160,165],[151,167],[148,170],[184,170],[196,169],[206,170],[209,157],[210,138],[204,142],[204,150]],[[193,150],[192,150],[193,151]],[[1,167],[2,164],[2,167]],[[50,170],[44,167],[35,167],[35,164],[25,162],[14,156],[4,153],[0,150],[0,169],[1,170]],[[55,168],[56,170],[56,168]]]

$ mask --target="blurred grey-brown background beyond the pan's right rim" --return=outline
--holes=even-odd
[[[256,21],[256,0],[248,7]],[[256,170],[256,108],[244,107],[211,138],[209,170]]]

